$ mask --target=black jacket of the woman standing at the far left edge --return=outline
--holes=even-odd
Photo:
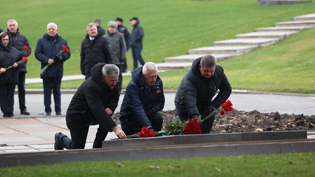
[[[8,46],[4,46],[0,42],[0,67],[7,68],[22,59],[22,54],[9,43]],[[18,83],[18,67],[12,67],[0,74],[0,85],[8,83]]]

